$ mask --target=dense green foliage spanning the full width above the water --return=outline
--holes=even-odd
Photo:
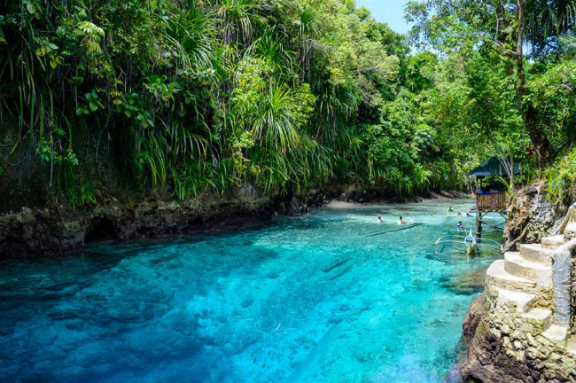
[[[246,184],[402,196],[458,187],[492,154],[529,169],[525,100],[555,151],[576,136],[573,24],[552,48],[530,29],[539,50],[518,92],[514,60],[491,46],[493,20],[470,14],[486,4],[411,4],[439,58],[410,54],[350,0],[9,0],[0,184],[26,169],[81,206],[126,188],[186,199]],[[450,22],[435,25],[432,7]]]

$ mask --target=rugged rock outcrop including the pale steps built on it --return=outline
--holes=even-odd
[[[541,244],[520,245],[486,271],[486,290],[463,324],[471,338],[464,379],[496,383],[576,381],[572,275],[576,223]]]

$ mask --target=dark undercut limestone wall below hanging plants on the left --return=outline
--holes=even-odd
[[[273,199],[147,201],[133,205],[28,209],[0,216],[0,259],[82,250],[97,239],[159,238],[217,231],[269,220],[282,208]]]

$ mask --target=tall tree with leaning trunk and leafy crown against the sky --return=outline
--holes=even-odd
[[[410,2],[407,15],[419,42],[440,51],[482,46],[510,60],[525,130],[540,168],[549,165],[554,152],[526,86],[525,60],[560,50],[561,37],[576,26],[576,0],[425,0]]]

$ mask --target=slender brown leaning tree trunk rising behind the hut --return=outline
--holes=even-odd
[[[518,99],[522,109],[522,118],[524,119],[525,129],[530,136],[534,149],[538,154],[538,168],[546,168],[554,156],[548,137],[544,134],[543,129],[538,124],[538,112],[532,105],[532,102],[526,97],[526,77],[524,73],[524,29],[525,29],[525,9],[526,0],[517,0],[518,5],[518,40],[516,43],[516,68],[518,71]]]

